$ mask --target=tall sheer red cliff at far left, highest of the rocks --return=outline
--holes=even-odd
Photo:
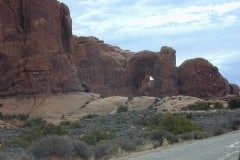
[[[56,0],[0,0],[0,96],[79,91],[69,9]]]

